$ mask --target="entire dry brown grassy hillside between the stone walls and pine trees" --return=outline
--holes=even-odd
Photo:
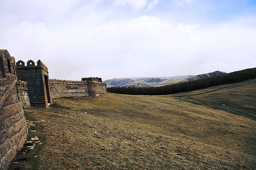
[[[27,108],[28,140],[39,140],[26,144],[9,169],[256,169],[255,89],[254,79],[175,95],[107,93]],[[251,119],[235,115],[239,110]]]

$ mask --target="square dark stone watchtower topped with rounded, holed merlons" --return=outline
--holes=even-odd
[[[26,81],[28,84],[28,95],[31,106],[48,108],[48,103],[52,103],[48,81],[48,68],[41,60],[37,61],[37,65],[32,60],[29,60],[27,66],[20,60],[16,63],[16,68],[18,79]]]

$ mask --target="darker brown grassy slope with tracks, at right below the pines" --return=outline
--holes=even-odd
[[[204,105],[256,121],[256,79],[236,84],[172,94],[180,100]]]

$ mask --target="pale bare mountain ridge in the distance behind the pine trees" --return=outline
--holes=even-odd
[[[214,77],[226,74],[223,71],[214,71],[211,73],[204,73],[199,75],[183,75],[172,77],[132,77],[132,78],[113,78],[105,80],[107,87],[156,87],[163,85],[170,85],[173,83],[181,83],[186,81],[193,81],[206,77]]]

